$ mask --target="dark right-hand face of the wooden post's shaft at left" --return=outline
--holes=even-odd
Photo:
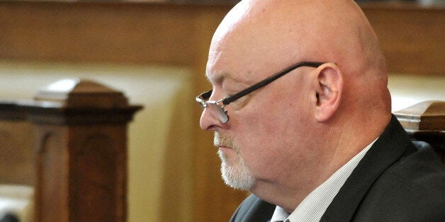
[[[74,127],[70,132],[70,221],[125,221],[125,127]]]

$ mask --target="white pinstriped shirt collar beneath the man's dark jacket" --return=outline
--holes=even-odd
[[[276,206],[271,222],[320,221],[320,218],[325,214],[327,207],[331,204],[340,188],[342,188],[344,182],[346,182],[356,166],[359,165],[360,160],[365,156],[366,152],[368,152],[369,148],[371,148],[376,140],[377,139],[372,141],[371,144],[366,146],[360,153],[354,156],[354,158],[351,158],[348,163],[343,165],[342,168],[339,168],[339,170],[323,182],[322,185],[310,192],[310,194],[298,204],[292,214],[289,215],[283,208]]]

